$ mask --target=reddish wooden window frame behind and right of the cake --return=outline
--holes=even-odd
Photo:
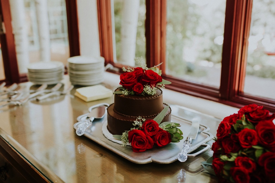
[[[104,2],[103,2],[104,1]],[[108,55],[107,63],[121,68],[125,65],[114,63],[111,29],[111,1],[97,0],[101,56]],[[275,112],[275,100],[255,97],[243,92],[247,47],[250,31],[252,0],[226,1],[225,28],[222,51],[220,87],[192,83],[165,74],[165,64],[160,65],[162,77],[172,82],[165,87],[177,92],[213,100],[241,108],[248,104],[264,106]],[[166,0],[146,1],[146,61],[148,67],[165,63],[166,58]]]

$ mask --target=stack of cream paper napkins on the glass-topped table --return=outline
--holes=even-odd
[[[94,100],[109,98],[113,96],[113,91],[104,87],[103,85],[94,85],[78,88],[76,89],[74,95],[84,100],[85,102],[90,102]]]

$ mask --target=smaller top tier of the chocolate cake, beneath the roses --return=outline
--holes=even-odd
[[[162,90],[156,92],[153,96],[115,94],[113,110],[131,118],[156,116],[163,110]]]

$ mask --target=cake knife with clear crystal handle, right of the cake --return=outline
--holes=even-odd
[[[183,148],[180,153],[178,153],[178,160],[180,162],[185,162],[187,160],[187,152],[192,144],[192,140],[195,140],[200,128],[200,119],[194,118],[192,120],[192,125],[186,140],[183,142]]]

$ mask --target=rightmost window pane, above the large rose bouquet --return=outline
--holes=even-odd
[[[275,0],[254,0],[244,92],[275,99]]]

